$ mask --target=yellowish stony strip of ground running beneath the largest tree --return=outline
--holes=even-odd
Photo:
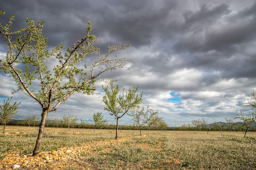
[[[146,159],[142,161],[129,162],[104,161],[104,155],[112,152],[112,148],[125,144],[127,140],[138,137],[122,137],[118,140],[90,141],[81,144],[79,147],[60,148],[48,152],[40,152],[36,157],[32,154],[22,155],[16,152],[9,152],[0,160],[2,170],[124,170],[124,169],[174,169],[181,167],[181,162],[175,159],[161,159],[161,167],[155,164],[154,160]],[[161,147],[141,143],[143,148],[162,152]],[[159,143],[161,145],[161,143]],[[101,148],[101,149],[99,149]],[[97,159],[100,157],[101,159]]]

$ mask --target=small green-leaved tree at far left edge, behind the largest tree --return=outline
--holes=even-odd
[[[12,97],[11,97],[12,99]],[[4,126],[3,133],[5,133],[5,126],[9,123],[10,119],[17,113],[17,109],[20,103],[15,102],[13,105],[10,104],[11,99],[4,100],[3,105],[0,105],[0,119],[1,124]]]

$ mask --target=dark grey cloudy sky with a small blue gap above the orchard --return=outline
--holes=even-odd
[[[8,0],[0,10],[6,11],[1,24],[16,13],[13,29],[26,27],[26,18],[45,21],[49,49],[76,43],[88,21],[102,53],[108,45],[131,44],[117,55],[134,63],[111,77],[121,90],[139,85],[142,106],[159,110],[169,126],[202,118],[225,121],[235,118],[236,110],[251,113],[244,103],[256,90],[255,0]],[[1,58],[4,43],[1,38]],[[2,71],[0,80],[2,103],[16,84]],[[90,121],[102,112],[111,123],[115,119],[103,110],[103,96],[74,94],[49,119],[70,113]],[[14,101],[21,101],[16,119],[40,116],[40,105],[27,95],[16,93]],[[121,118],[120,124],[130,119]]]

